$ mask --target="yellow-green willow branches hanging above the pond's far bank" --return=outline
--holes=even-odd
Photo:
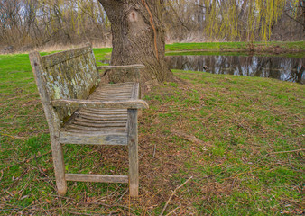
[[[241,8],[243,4],[245,8]],[[269,40],[273,24],[281,16],[285,4],[286,0],[205,0],[206,33],[211,37],[239,40],[245,31],[248,39],[254,39],[257,34],[259,38]],[[244,20],[238,17],[242,10],[246,12]]]

